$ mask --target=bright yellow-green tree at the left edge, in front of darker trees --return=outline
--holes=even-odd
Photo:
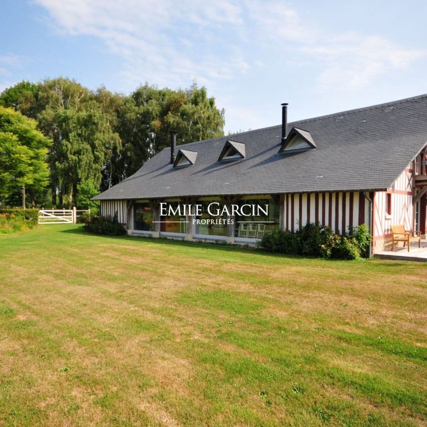
[[[25,185],[32,204],[48,184],[46,163],[51,141],[37,122],[12,108],[0,107],[0,200],[7,201]]]

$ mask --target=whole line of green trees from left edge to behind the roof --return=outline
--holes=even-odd
[[[130,95],[75,80],[21,82],[0,95],[0,205],[79,206],[169,146],[223,135],[206,87],[141,85]]]

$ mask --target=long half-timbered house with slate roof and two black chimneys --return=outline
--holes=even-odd
[[[337,233],[366,223],[374,251],[388,246],[393,224],[425,237],[427,95],[289,124],[283,104],[279,126],[178,146],[172,132],[171,148],[95,199],[132,235],[244,244],[307,222]],[[213,202],[269,210],[210,225],[188,212],[161,216],[162,202],[198,203],[205,219]]]

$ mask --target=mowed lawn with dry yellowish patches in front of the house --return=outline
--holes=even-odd
[[[0,236],[0,426],[426,426],[427,265]]]

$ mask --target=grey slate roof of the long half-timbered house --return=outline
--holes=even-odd
[[[392,106],[392,108],[390,108]],[[197,162],[173,168],[170,148],[95,200],[385,190],[427,143],[427,94],[288,124],[316,148],[279,154],[281,125],[183,144]],[[217,162],[227,139],[246,158]]]

